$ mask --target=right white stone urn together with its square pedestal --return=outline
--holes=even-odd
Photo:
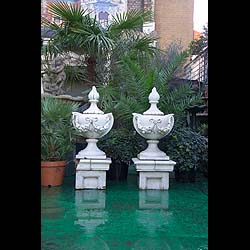
[[[136,131],[147,139],[148,147],[133,158],[139,172],[140,189],[169,188],[169,172],[174,170],[174,161],[158,148],[161,138],[170,133],[174,126],[174,115],[164,115],[157,107],[160,96],[153,88],[149,95],[150,108],[143,114],[133,113],[133,125]]]

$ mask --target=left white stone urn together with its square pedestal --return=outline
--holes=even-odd
[[[93,86],[88,95],[90,107],[83,113],[72,112],[72,124],[83,138],[87,147],[76,155],[76,189],[105,189],[106,171],[111,159],[97,147],[98,139],[107,134],[114,123],[112,113],[104,114],[97,107],[99,93]]]

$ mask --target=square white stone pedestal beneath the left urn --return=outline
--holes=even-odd
[[[80,159],[76,168],[75,189],[106,189],[110,158]]]

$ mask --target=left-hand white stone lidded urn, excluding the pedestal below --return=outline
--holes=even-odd
[[[112,128],[114,117],[112,113],[104,114],[97,107],[99,93],[93,86],[88,95],[90,107],[83,113],[72,112],[72,124],[82,137],[86,138],[87,147],[81,150],[77,159],[106,159],[106,154],[97,147],[98,139],[106,135]]]

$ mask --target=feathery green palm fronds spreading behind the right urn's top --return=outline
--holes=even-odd
[[[172,53],[173,55],[173,53]],[[170,89],[168,82],[187,58],[187,51],[181,51],[171,57],[168,65],[151,63],[145,69],[130,57],[120,61],[118,75],[112,82],[100,86],[100,104],[105,112],[113,112],[116,125],[133,128],[132,113],[143,113],[149,108],[148,96],[153,87],[160,94],[159,109],[164,113],[174,113],[177,124],[186,120],[185,108],[202,102],[201,94],[191,85],[184,84]]]

